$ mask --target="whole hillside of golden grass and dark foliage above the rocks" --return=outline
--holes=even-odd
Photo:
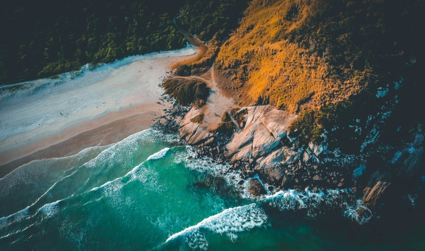
[[[417,81],[424,8],[423,1],[254,0],[218,54],[216,68],[227,79],[222,88],[243,105],[299,113],[292,131],[306,139],[321,141],[327,130],[353,148],[368,134],[348,125],[360,119],[370,130],[368,116],[384,113],[383,106],[395,107],[391,119],[398,122],[409,117],[402,127],[408,131],[423,121],[406,109],[423,94]],[[378,88],[400,80],[403,88],[376,97]]]

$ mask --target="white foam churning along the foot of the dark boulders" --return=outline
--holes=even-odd
[[[184,161],[185,165],[190,169],[209,172],[216,177],[223,177],[227,184],[238,190],[240,196],[245,199],[253,200],[254,202],[265,203],[271,207],[278,208],[280,211],[285,210],[305,210],[308,217],[314,218],[319,214],[326,213],[330,210],[342,211],[342,215],[359,223],[363,224],[372,218],[371,211],[362,205],[361,199],[356,199],[357,196],[351,190],[347,189],[327,189],[326,191],[318,192],[305,188],[304,191],[297,192],[294,189],[280,190],[274,194],[270,194],[267,189],[268,184],[264,184],[256,174],[252,179],[258,179],[264,190],[269,192],[267,195],[259,197],[253,196],[248,192],[249,180],[239,185],[238,182],[242,179],[239,171],[228,172],[230,165],[226,163],[219,164],[217,161],[202,157],[194,158],[195,152],[191,146],[186,147],[187,155],[177,157],[176,162]],[[187,158],[190,156],[191,158]],[[347,203],[351,201],[350,203]],[[359,212],[362,211],[362,214]]]

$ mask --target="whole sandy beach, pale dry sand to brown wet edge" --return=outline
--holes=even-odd
[[[170,106],[160,100],[167,71],[203,53],[188,45],[0,88],[0,178],[32,160],[70,156],[147,129]]]

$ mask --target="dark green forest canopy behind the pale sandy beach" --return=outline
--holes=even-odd
[[[230,25],[234,5],[231,0],[12,1],[0,11],[0,84],[182,48],[186,41],[174,18],[209,39]]]

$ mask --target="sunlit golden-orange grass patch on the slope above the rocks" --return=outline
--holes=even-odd
[[[328,77],[326,55],[285,39],[285,34],[305,25],[317,5],[301,0],[251,2],[216,60],[236,93],[243,94],[241,100],[296,113],[304,104],[317,108],[359,93],[357,81],[342,83]]]

